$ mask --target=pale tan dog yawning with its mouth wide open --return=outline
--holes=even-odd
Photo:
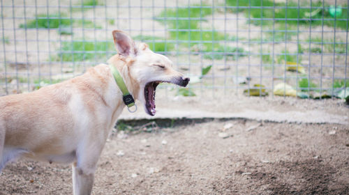
[[[119,30],[112,36],[117,54],[108,64],[38,91],[0,98],[0,171],[19,157],[71,163],[73,194],[91,194],[105,141],[128,101],[139,100],[154,116],[158,84],[186,86],[190,81],[146,43],[136,45]],[[113,69],[129,92],[127,100]]]

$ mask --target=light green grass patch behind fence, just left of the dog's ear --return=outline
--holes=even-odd
[[[85,61],[105,58],[106,52],[114,49],[112,42],[101,41],[64,41],[57,61]]]

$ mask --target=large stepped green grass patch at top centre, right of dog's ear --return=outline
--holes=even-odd
[[[179,46],[182,48],[195,48],[198,52],[228,52],[239,54],[244,52],[242,48],[236,47],[223,47],[221,43],[217,41],[232,41],[236,40],[235,37],[225,36],[223,33],[217,31],[199,31],[200,23],[205,22],[205,17],[211,15],[212,8],[205,8],[207,5],[202,5],[200,8],[188,7],[177,9],[163,10],[156,20],[159,20],[163,24],[168,24],[170,29],[170,40],[179,40]],[[164,18],[164,19],[162,19]],[[179,20],[177,20],[179,18]],[[198,30],[198,31],[195,31]],[[205,29],[204,29],[205,30]],[[205,59],[223,59],[224,56],[234,59],[235,54],[204,54]]]

